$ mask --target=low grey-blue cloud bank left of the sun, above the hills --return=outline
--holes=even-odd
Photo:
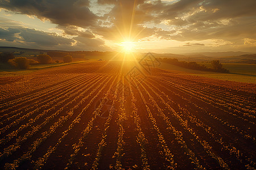
[[[26,46],[29,48],[63,49],[63,50],[111,50],[105,42],[96,39],[89,31],[80,31],[72,39],[56,33],[38,31],[24,27],[0,28],[1,45]]]

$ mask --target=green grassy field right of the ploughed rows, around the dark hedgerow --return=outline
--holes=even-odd
[[[204,64],[205,66],[210,67],[210,63],[202,62],[201,64]],[[253,65],[253,64],[223,63],[223,67],[230,70],[231,74],[185,69],[183,67],[179,67],[179,66],[172,65],[170,63],[163,63],[163,62],[161,62],[160,65],[157,67],[165,70],[174,70],[179,73],[204,76],[204,77],[220,79],[220,80],[256,83],[256,65]]]

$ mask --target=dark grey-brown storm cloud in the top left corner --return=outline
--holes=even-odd
[[[35,15],[60,25],[86,27],[96,24],[97,16],[89,8],[89,0],[2,0],[0,7],[19,14]]]

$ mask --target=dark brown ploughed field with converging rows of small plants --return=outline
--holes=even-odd
[[[1,76],[0,169],[255,167],[256,84],[146,69],[91,61]]]

